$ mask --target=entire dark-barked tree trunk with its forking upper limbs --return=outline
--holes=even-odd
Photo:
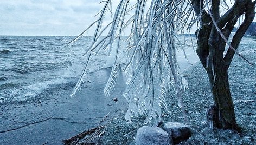
[[[208,12],[204,9],[208,8],[205,5],[206,2],[210,3]],[[232,8],[222,16],[220,16],[220,2],[220,0],[191,0],[194,11],[197,17],[200,17],[201,23],[200,29],[196,31],[198,44],[196,52],[204,69],[207,71],[214,106],[216,107],[216,118],[213,120],[213,126],[239,130],[236,124],[234,104],[228,82],[228,68],[235,52],[229,48],[227,53],[224,54],[226,42],[221,37],[220,32],[217,31],[215,25],[220,28],[223,36],[228,39],[239,17],[245,14],[244,21],[231,41],[231,46],[234,49],[238,49],[242,37],[254,19],[256,2],[235,0]]]

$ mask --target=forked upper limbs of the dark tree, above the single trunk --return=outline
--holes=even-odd
[[[208,3],[209,2],[203,3],[202,0],[191,0],[191,4],[193,4],[194,6],[194,10],[197,17],[200,17],[200,29],[202,29],[203,32],[208,33],[204,34],[204,37],[206,37],[205,39],[207,41],[209,40],[209,42],[212,42],[208,43],[208,46],[197,48],[201,49],[197,50],[197,52],[204,53],[204,55],[201,55],[202,58],[200,58],[201,62],[204,65],[204,68],[206,68],[207,66],[206,59],[208,55],[222,56],[218,57],[217,59],[221,59],[218,62],[224,62],[223,64],[226,66],[226,68],[229,68],[229,65],[231,64],[234,54],[238,54],[242,59],[247,61],[249,64],[253,65],[253,63],[251,63],[244,56],[239,54],[237,49],[242,37],[244,36],[246,30],[248,29],[249,25],[252,23],[254,19],[254,9],[256,1],[235,1],[232,8],[230,8],[221,17],[220,10],[218,7],[220,5],[220,1],[212,1],[211,8],[209,8]],[[208,9],[206,10],[206,8]],[[228,38],[231,35],[231,32],[234,29],[236,22],[238,22],[239,17],[244,14],[245,19],[239,26],[238,30],[235,32],[232,41],[229,44]],[[226,44],[229,45],[229,48],[226,54],[224,54]]]

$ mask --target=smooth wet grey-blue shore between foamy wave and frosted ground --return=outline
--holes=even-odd
[[[0,132],[14,130],[0,133],[0,144],[62,144],[62,140],[97,126],[110,110],[119,111],[127,105],[120,94],[125,85],[123,79],[118,79],[119,87],[111,96],[104,95],[103,89],[110,72],[111,69],[106,68],[88,73],[85,87],[81,87],[82,91],[73,98],[69,95],[75,84],[58,84],[47,89],[42,94],[44,98],[2,104]],[[118,102],[112,98],[118,98]],[[24,126],[26,124],[30,125]]]

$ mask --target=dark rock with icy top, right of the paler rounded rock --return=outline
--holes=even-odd
[[[192,135],[190,126],[182,123],[169,122],[164,123],[161,127],[171,135],[174,144],[178,144],[182,140],[188,139]]]

